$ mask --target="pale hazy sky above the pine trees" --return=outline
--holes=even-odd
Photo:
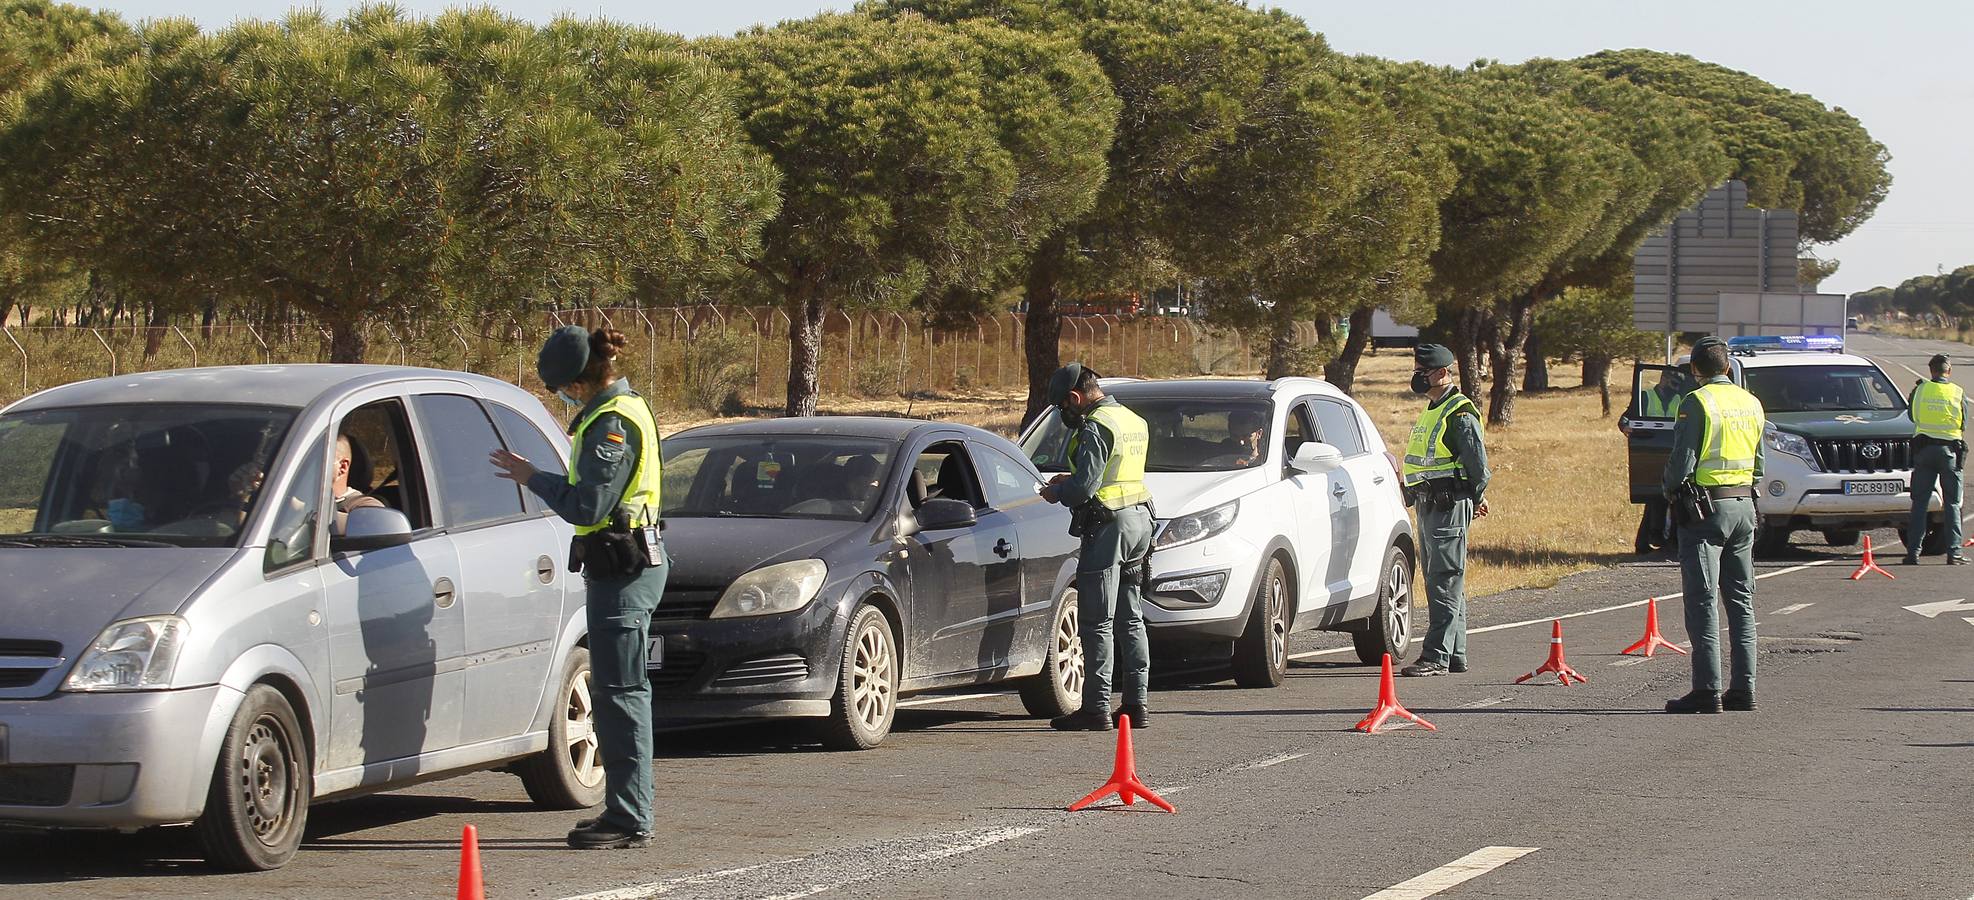
[[[91,4],[91,0],[71,0]],[[97,0],[130,20],[188,16],[205,28],[278,18],[294,4]],[[322,2],[328,14],[351,4]],[[460,2],[401,0],[415,12]],[[492,0],[511,16],[604,16],[685,36],[849,10],[851,0]],[[1891,195],[1844,241],[1826,292],[1858,292],[1974,264],[1974,2],[1966,0],[1279,0],[1344,53],[1467,65],[1575,57],[1611,47],[1690,53],[1842,107],[1891,150]]]

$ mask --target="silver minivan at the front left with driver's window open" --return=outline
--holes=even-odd
[[[0,821],[190,823],[215,864],[274,868],[318,799],[505,766],[543,807],[598,803],[569,525],[488,464],[567,466],[559,434],[513,385],[409,367],[0,411]]]

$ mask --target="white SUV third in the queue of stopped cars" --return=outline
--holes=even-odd
[[[1350,632],[1358,659],[1411,638],[1411,519],[1398,460],[1348,395],[1317,379],[1131,381],[1103,391],[1145,418],[1159,517],[1145,620],[1153,645],[1234,641],[1242,687],[1275,687],[1291,632]],[[1054,411],[1021,446],[1068,468]]]

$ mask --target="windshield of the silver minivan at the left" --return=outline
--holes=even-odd
[[[0,543],[233,547],[292,420],[190,403],[0,416]]]

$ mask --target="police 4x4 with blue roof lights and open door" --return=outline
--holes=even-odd
[[[1678,367],[1638,365],[1632,375],[1631,499],[1658,495],[1666,454],[1672,450],[1672,414],[1648,403],[1660,377],[1690,387]],[[1769,416],[1763,432],[1763,476],[1755,482],[1759,527],[1755,553],[1773,557],[1796,531],[1820,531],[1834,547],[1858,543],[1869,529],[1905,527],[1913,509],[1913,416],[1897,383],[1861,355],[1804,349],[1741,349],[1733,357],[1733,383],[1745,387]],[[1933,497],[1929,543],[1940,525],[1940,499]],[[1927,547],[1925,553],[1944,553]]]

